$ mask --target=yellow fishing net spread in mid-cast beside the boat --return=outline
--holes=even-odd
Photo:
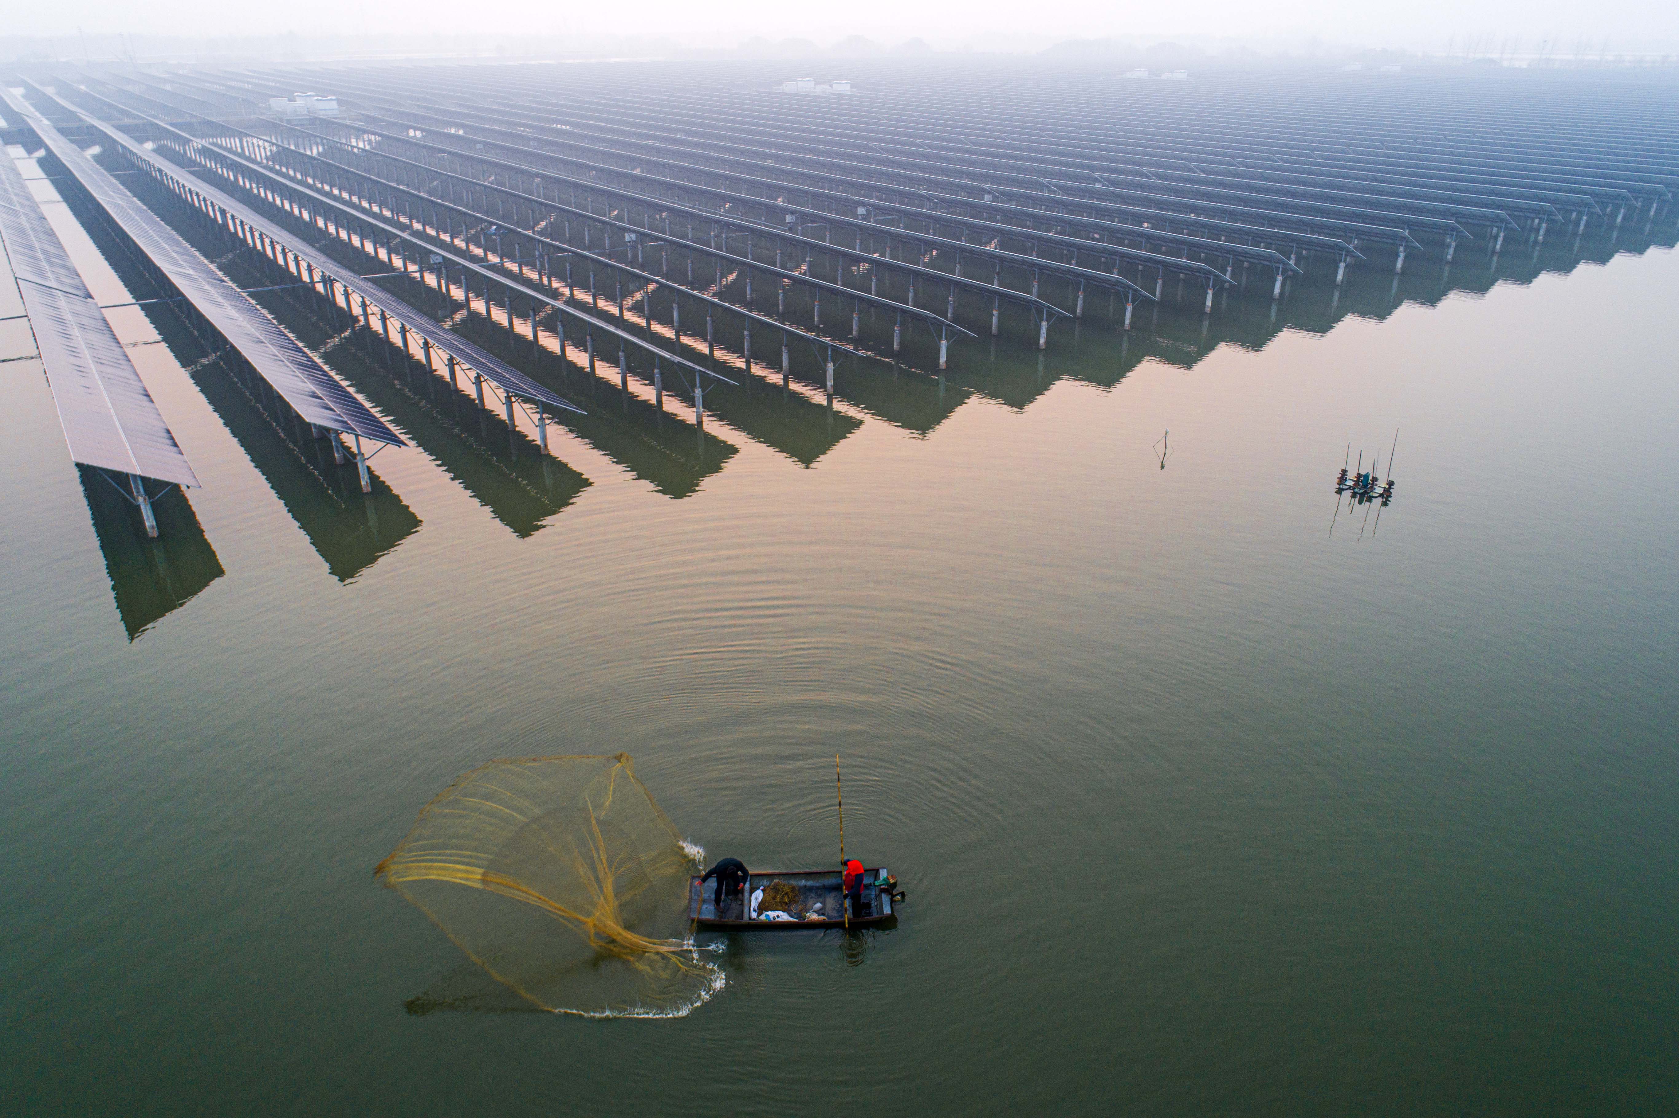
[[[544,1009],[672,1016],[722,984],[683,938],[692,868],[618,754],[473,769],[374,875]]]

